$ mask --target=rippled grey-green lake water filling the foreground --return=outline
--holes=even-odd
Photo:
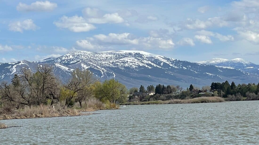
[[[1,120],[0,144],[259,144],[259,101],[133,105],[94,115]]]

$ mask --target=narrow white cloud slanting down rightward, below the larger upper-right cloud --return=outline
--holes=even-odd
[[[218,38],[220,41],[234,41],[234,37],[232,35],[224,36],[219,33],[214,33],[206,30],[197,31],[196,33],[198,33],[199,35],[212,36]]]

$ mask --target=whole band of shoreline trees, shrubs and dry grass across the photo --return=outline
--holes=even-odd
[[[119,104],[184,104],[258,100],[259,83],[211,83],[202,88],[157,84],[126,89],[115,79],[98,81],[89,70],[74,70],[61,81],[51,67],[38,66],[37,72],[22,68],[10,83],[0,84],[0,120],[18,118],[87,115],[83,112],[117,109]],[[4,128],[4,124],[1,124]]]

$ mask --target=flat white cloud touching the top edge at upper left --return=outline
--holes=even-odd
[[[34,3],[31,3],[30,5],[27,5],[25,3],[19,3],[16,7],[17,11],[24,11],[24,12],[30,12],[30,11],[53,11],[57,7],[56,3],[51,3],[49,1],[36,1]]]

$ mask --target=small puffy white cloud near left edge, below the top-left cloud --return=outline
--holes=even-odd
[[[12,22],[8,26],[9,26],[10,31],[21,32],[21,33],[23,33],[24,30],[35,31],[36,29],[39,28],[38,26],[36,26],[33,23],[32,19],[26,19],[24,21]]]

